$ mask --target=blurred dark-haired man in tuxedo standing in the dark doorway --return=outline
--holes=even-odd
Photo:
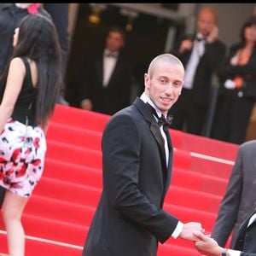
[[[113,114],[130,104],[133,71],[122,51],[124,46],[125,32],[114,26],[108,32],[105,49],[86,56],[78,86],[81,108]]]

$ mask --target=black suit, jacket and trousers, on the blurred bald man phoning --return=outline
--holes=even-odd
[[[185,69],[191,53],[192,49],[183,54],[174,53],[183,62]],[[210,101],[212,73],[215,72],[224,53],[225,46],[219,40],[212,44],[205,44],[205,52],[195,70],[193,89],[183,88],[182,95],[170,110],[173,116],[172,128],[183,130],[184,122],[186,122],[189,133],[201,135]]]

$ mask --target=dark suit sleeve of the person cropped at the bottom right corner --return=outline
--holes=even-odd
[[[253,212],[255,213],[255,212]],[[247,224],[252,217],[253,214],[249,216],[249,218],[241,224],[241,227],[238,232],[238,237],[234,246],[235,250],[245,252],[241,253],[241,256],[255,256],[256,255],[256,220],[253,221],[247,227]]]

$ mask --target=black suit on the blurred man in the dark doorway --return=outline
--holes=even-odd
[[[93,103],[93,111],[113,114],[130,104],[132,67],[122,52],[113,69],[106,88],[103,80],[103,52],[100,55],[88,57],[79,81],[79,101],[88,98]]]

